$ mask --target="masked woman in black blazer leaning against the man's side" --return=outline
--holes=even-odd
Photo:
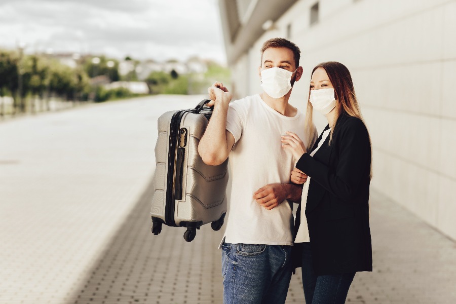
[[[294,133],[282,136],[283,148],[298,160],[291,181],[307,180],[296,217],[295,247],[301,249],[306,303],[344,303],[355,273],[372,271],[371,143],[345,65],[317,65],[309,93],[307,126],[312,126],[313,109],[328,120],[313,149],[308,151]]]

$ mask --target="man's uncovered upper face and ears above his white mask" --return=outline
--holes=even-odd
[[[261,79],[261,71],[272,68],[279,67],[286,69],[290,72],[296,71],[296,64],[294,62],[294,54],[288,48],[268,48],[265,49],[263,55],[261,56],[261,66],[258,68],[258,74]],[[296,73],[291,77],[291,85],[301,77],[302,69],[298,68]]]

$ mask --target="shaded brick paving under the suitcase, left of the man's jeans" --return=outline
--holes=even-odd
[[[152,195],[150,184],[69,302],[222,302],[220,232],[206,225],[187,243],[184,228],[163,226],[154,236],[147,214]]]

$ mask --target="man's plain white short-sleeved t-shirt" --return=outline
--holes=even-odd
[[[292,245],[292,203],[285,200],[267,210],[253,194],[267,184],[290,181],[296,160],[282,148],[281,135],[291,131],[305,140],[305,116],[299,111],[283,116],[253,95],[230,103],[226,130],[236,143],[229,157],[232,191],[225,242]]]

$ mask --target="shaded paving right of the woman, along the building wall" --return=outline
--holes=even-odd
[[[370,206],[373,272],[355,276],[347,302],[456,303],[456,242],[378,192]]]

